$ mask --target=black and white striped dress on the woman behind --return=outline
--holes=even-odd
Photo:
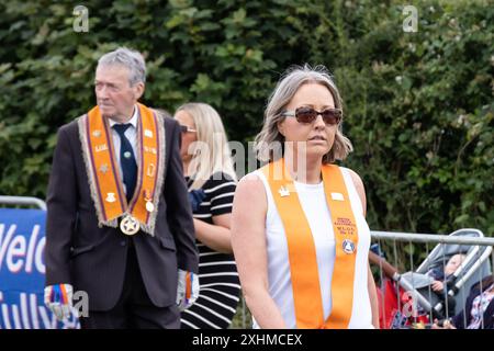
[[[187,179],[188,185],[192,184]],[[232,213],[236,183],[224,173],[212,176],[202,186],[205,197],[193,216],[213,224],[213,216]],[[239,302],[240,282],[233,254],[214,251],[201,241],[199,249],[200,294],[181,314],[182,329],[225,329]]]

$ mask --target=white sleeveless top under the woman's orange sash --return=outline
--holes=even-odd
[[[353,305],[349,322],[350,329],[373,328],[372,312],[367,286],[368,253],[370,246],[370,230],[363,217],[360,197],[351,180],[348,169],[340,167],[345,184],[350,197],[359,240],[357,247],[356,272],[353,282]],[[266,245],[268,253],[269,294],[274,299],[287,328],[296,328],[295,307],[291,283],[287,236],[268,181],[260,170],[252,172],[262,180],[268,199],[266,215]],[[332,310],[332,278],[335,264],[335,235],[329,208],[326,203],[324,184],[305,184],[294,181],[294,185],[311,228],[317,257],[321,296],[323,298],[324,318],[327,319]],[[260,328],[252,317],[252,328]]]

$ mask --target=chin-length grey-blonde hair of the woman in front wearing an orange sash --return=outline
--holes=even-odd
[[[326,87],[335,100],[335,107],[341,109],[343,111],[341,97],[326,67],[319,65],[312,68],[307,64],[303,67],[292,66],[284,72],[274,91],[269,97],[262,129],[256,136],[254,144],[254,149],[257,151],[257,158],[259,160],[272,162],[279,158],[279,152],[274,152],[272,149],[276,146],[274,144],[281,144],[283,147],[284,137],[278,131],[278,123],[283,121],[284,116],[282,116],[282,113],[299,88],[308,83],[317,83]],[[351,141],[343,134],[340,122],[336,128],[335,143],[330,150],[324,155],[323,163],[344,160],[352,150]]]

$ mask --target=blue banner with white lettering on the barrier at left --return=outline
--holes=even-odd
[[[0,329],[72,329],[44,305],[46,211],[0,208]]]

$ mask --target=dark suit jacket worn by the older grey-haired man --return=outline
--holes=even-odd
[[[115,306],[124,282],[130,240],[144,285],[158,307],[176,303],[177,268],[198,272],[192,212],[180,159],[178,123],[165,118],[166,160],[155,237],[139,231],[127,237],[119,229],[98,227],[74,121],[60,127],[47,193],[46,285],[69,283],[89,295],[90,310]]]

